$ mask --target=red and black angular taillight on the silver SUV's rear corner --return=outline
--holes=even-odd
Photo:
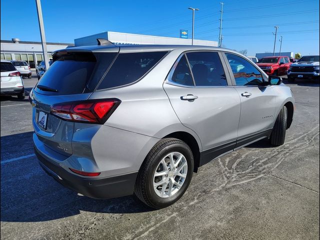
[[[103,124],[120,104],[117,98],[58,103],[51,114],[67,121]]]

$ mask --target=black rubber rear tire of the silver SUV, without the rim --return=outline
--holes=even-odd
[[[159,162],[166,154],[176,151],[182,153],[187,162],[187,174],[181,188],[172,196],[162,198],[153,189],[153,174]],[[159,209],[177,201],[187,189],[193,173],[193,154],[190,147],[176,138],[159,140],[145,157],[134,185],[134,194],[146,205]]]

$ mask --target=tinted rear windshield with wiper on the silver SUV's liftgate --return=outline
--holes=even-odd
[[[40,78],[38,85],[55,89],[59,95],[82,93],[95,64],[96,58],[92,53],[73,52],[59,56]]]

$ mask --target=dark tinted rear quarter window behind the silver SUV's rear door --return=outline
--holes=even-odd
[[[97,89],[132,83],[151,69],[167,51],[120,53]]]

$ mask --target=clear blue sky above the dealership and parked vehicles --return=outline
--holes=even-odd
[[[73,43],[74,38],[102,31],[120,31],[179,37],[186,29],[194,38],[218,39],[222,0],[42,0],[48,42]],[[272,52],[274,25],[278,25],[276,51],[319,54],[318,0],[223,0],[222,45],[247,49],[247,55]],[[35,0],[1,0],[1,39],[18,37],[40,41]]]

